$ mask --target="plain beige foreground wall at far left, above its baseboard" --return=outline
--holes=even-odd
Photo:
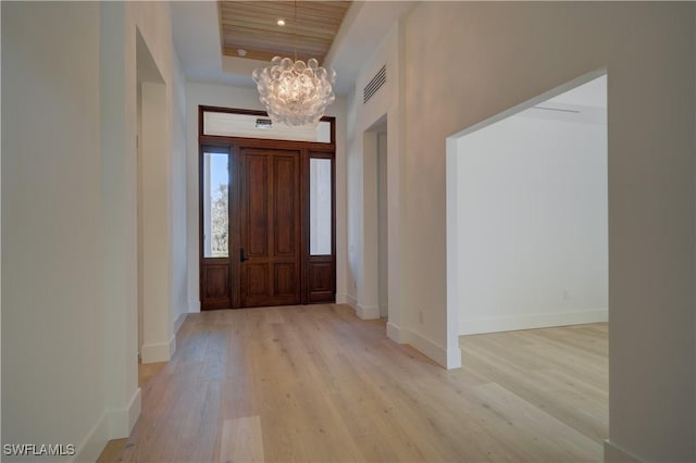
[[[2,443],[74,443],[82,451],[88,435],[108,438],[100,4],[0,8]]]

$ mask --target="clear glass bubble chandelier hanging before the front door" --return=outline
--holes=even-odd
[[[297,42],[297,2],[295,41]],[[333,89],[336,72],[320,66],[313,58],[307,64],[298,60],[297,43],[295,60],[275,57],[270,65],[253,70],[251,77],[257,84],[259,100],[276,123],[316,125],[326,107],[336,99]]]

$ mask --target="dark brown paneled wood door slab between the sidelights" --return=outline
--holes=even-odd
[[[302,215],[299,150],[241,148],[241,306],[301,302]]]

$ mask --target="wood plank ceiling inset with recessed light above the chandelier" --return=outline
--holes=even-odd
[[[275,55],[294,58],[297,47],[298,59],[315,58],[323,63],[351,2],[264,0],[217,3],[223,54],[271,61]],[[285,26],[279,26],[278,20],[285,21]]]

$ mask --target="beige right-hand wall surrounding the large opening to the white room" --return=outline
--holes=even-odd
[[[696,460],[694,8],[421,2],[406,24],[405,315],[427,308],[439,346],[446,138],[608,70],[607,446],[644,461]]]

